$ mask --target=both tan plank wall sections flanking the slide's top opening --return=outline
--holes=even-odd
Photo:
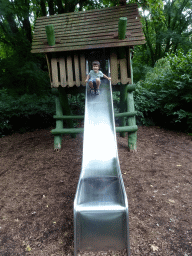
[[[113,48],[110,53],[110,64],[112,85],[118,83],[131,84],[129,48],[127,48],[127,56],[124,59],[118,59],[118,54]],[[69,54],[65,57],[52,57],[50,59],[50,69],[52,87],[86,85],[86,59],[83,53]]]

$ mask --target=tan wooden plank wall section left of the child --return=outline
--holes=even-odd
[[[85,56],[83,54],[51,58],[50,67],[51,87],[86,85]]]

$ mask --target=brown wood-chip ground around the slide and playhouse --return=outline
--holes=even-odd
[[[47,130],[0,139],[0,255],[73,255],[82,135],[53,151]],[[118,137],[131,255],[192,255],[192,137],[140,127],[138,152]],[[114,252],[81,255],[123,255]]]

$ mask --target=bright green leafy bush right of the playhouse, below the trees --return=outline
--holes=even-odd
[[[192,50],[159,60],[137,83],[136,109],[144,124],[192,130]]]

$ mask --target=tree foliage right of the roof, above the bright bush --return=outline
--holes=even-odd
[[[176,53],[191,48],[191,0],[132,0],[141,7],[140,15],[146,45],[136,46],[136,56],[145,65],[154,66],[167,53]],[[137,48],[141,49],[139,51]],[[137,57],[136,57],[137,58]]]

